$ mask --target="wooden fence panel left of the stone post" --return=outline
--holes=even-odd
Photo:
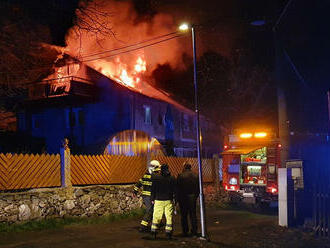
[[[58,187],[59,155],[0,154],[0,190]]]

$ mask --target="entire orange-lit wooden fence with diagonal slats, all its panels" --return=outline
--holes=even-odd
[[[177,176],[184,163],[198,172],[197,158],[156,156],[169,165]],[[72,185],[129,184],[145,173],[147,158],[117,155],[71,155]],[[215,160],[203,159],[203,180],[214,182]],[[0,190],[30,189],[61,186],[60,155],[0,154]]]

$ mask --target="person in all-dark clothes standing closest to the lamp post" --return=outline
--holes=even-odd
[[[191,223],[191,234],[197,235],[196,200],[198,196],[198,176],[191,171],[190,164],[185,164],[183,172],[177,178],[177,199],[181,212],[183,236],[188,236],[188,215]]]

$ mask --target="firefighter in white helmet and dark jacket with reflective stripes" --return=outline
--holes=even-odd
[[[152,185],[152,174],[160,171],[160,163],[157,160],[151,160],[146,173],[143,177],[134,185],[134,194],[137,195],[141,191],[143,204],[146,208],[146,213],[141,220],[140,232],[149,232],[149,224],[151,224],[153,205],[151,203],[151,185]]]

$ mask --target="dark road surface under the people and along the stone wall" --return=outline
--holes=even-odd
[[[299,230],[278,227],[277,217],[246,211],[208,209],[207,226],[211,242],[182,238],[179,218],[175,218],[175,236],[166,240],[164,233],[156,241],[137,232],[138,219],[98,225],[71,225],[56,230],[0,234],[0,247],[15,248],[90,248],[90,247],[330,247],[330,242]]]

